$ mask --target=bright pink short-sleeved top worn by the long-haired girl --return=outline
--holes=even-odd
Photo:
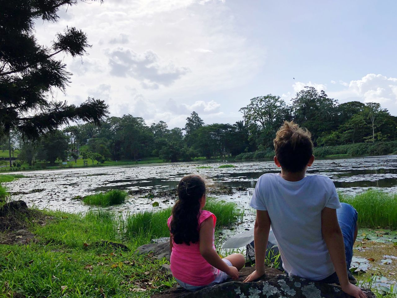
[[[200,216],[198,217],[198,226],[212,217],[214,220],[214,232],[216,217],[210,211],[202,210],[200,211]],[[172,221],[172,216],[167,221],[168,227]],[[214,243],[215,237],[212,234],[212,246],[215,249]],[[183,281],[184,283],[191,284],[192,286],[205,286],[206,284],[212,283],[218,274],[218,269],[210,265],[200,253],[200,242],[190,243],[187,245],[176,244],[172,240],[173,248],[171,252],[171,272],[172,275]]]

